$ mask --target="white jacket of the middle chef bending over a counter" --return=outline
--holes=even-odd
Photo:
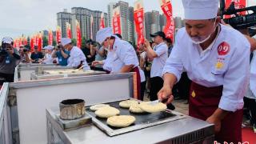
[[[109,50],[104,61],[103,69],[109,70],[110,73],[120,73],[122,66],[138,66],[138,57],[134,47],[129,42],[115,38],[113,50]],[[141,82],[146,80],[144,72],[139,70]]]

